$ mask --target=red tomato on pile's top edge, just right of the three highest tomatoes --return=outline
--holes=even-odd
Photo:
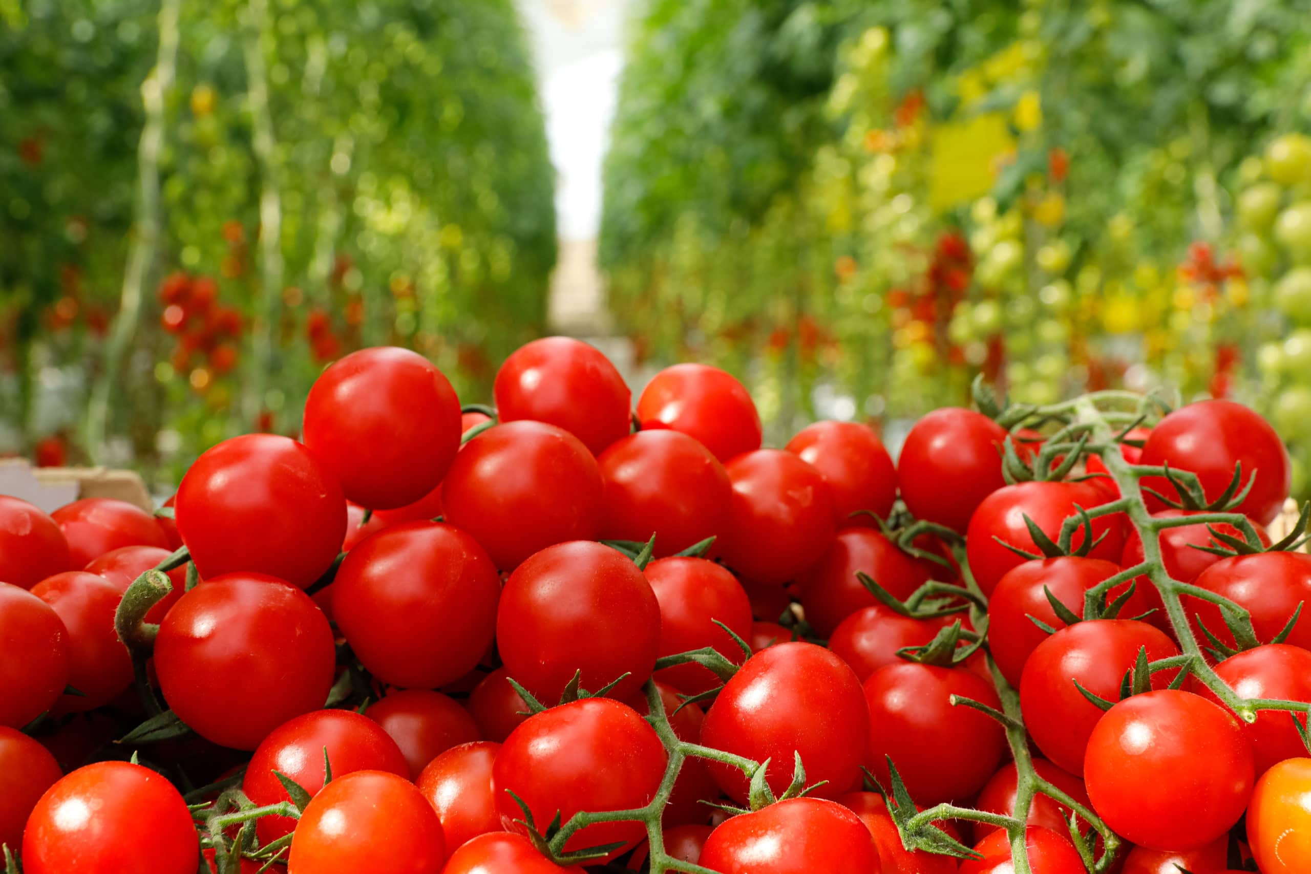
[[[815,422],[787,446],[814,466],[832,493],[834,524],[873,524],[852,514],[871,510],[886,519],[897,499],[897,468],[878,434],[859,422]]]

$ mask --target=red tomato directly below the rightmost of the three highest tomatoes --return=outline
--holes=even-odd
[[[600,532],[646,542],[656,556],[682,552],[728,527],[729,474],[704,446],[678,431],[638,431],[597,459],[604,481]]]

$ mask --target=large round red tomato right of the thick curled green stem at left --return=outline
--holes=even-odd
[[[173,713],[206,740],[254,750],[328,700],[337,651],[308,595],[281,579],[229,574],[182,596],[155,639]]]

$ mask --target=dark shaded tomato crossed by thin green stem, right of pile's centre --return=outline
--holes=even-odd
[[[839,531],[823,557],[797,579],[806,621],[819,637],[829,637],[844,618],[878,603],[856,579],[857,571],[898,599],[909,598],[931,575],[927,562],[902,552],[872,528]]]

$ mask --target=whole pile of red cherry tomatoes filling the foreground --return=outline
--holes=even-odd
[[[155,515],[0,498],[10,870],[1311,870],[1311,557],[1251,410],[1084,459],[941,409],[894,464],[762,448],[700,364],[635,411],[566,338],[494,401],[366,349]]]

